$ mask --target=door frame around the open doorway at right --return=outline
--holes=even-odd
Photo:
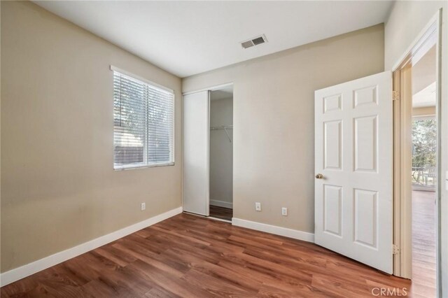
[[[431,18],[412,45],[393,67],[393,132],[394,132],[394,211],[393,274],[402,278],[412,278],[412,181],[408,175],[412,159],[412,65],[435,45],[436,51],[436,116],[437,116],[437,188],[436,188],[436,274],[437,293],[441,295],[440,267],[440,202],[442,190],[441,175],[441,32],[442,10]]]

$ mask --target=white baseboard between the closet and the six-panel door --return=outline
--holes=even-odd
[[[251,220],[241,220],[232,218],[232,225],[237,227],[246,227],[247,229],[256,229],[257,231],[285,236],[293,239],[308,241],[314,243],[314,234],[302,232],[297,229],[288,229],[287,227],[278,227],[276,225],[267,225],[261,222],[252,222]]]

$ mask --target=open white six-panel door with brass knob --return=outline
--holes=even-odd
[[[392,74],[315,101],[315,242],[392,274]]]

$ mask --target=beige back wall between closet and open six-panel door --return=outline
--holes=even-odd
[[[235,84],[234,216],[314,232],[314,90],[383,69],[379,24],[183,79],[184,92]]]

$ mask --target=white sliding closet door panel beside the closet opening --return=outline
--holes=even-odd
[[[209,215],[210,92],[183,97],[183,211]]]

